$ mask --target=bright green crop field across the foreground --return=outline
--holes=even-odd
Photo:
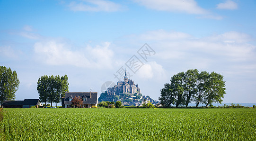
[[[256,109],[4,109],[1,141],[256,141]]]

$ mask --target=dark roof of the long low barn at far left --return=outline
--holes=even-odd
[[[4,101],[3,105],[40,105],[39,99],[25,99],[24,101]]]

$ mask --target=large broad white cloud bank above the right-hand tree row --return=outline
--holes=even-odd
[[[157,48],[156,56],[164,60],[175,59],[193,66],[189,62],[198,62],[203,58],[202,67],[196,65],[197,68],[212,67],[217,60],[253,61],[256,56],[256,46],[249,44],[253,39],[248,34],[236,31],[193,38],[187,33],[158,30],[148,31],[135,38],[145,42],[155,40],[151,47]]]

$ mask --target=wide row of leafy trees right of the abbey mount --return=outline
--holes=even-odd
[[[170,79],[161,89],[159,101],[163,106],[185,105],[196,102],[206,104],[222,102],[225,90],[225,81],[219,73],[206,71],[198,72],[197,69],[179,72]]]

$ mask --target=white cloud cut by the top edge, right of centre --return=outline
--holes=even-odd
[[[194,0],[134,0],[141,5],[159,10],[185,12],[188,14],[206,14],[207,10],[199,7]]]

